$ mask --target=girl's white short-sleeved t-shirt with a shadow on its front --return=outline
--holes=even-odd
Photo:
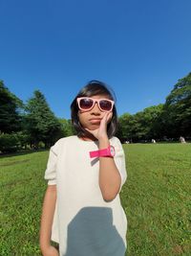
[[[117,139],[114,160],[126,180],[125,157]],[[45,179],[56,184],[57,199],[52,240],[59,244],[61,256],[123,256],[126,249],[127,220],[120,198],[105,201],[98,185],[99,160],[89,152],[97,142],[77,136],[58,140],[51,148]]]

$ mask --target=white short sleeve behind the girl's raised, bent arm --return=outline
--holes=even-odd
[[[115,147],[115,151],[116,151],[114,160],[117,165],[117,170],[121,176],[121,184],[120,184],[120,190],[121,190],[121,188],[127,178],[125,154],[124,154],[124,151],[123,151],[123,148],[122,148],[122,145],[121,145],[119,139],[117,139],[117,137],[114,137],[113,139],[111,141],[111,145],[113,145]]]

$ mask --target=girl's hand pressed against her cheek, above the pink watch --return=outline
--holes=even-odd
[[[93,134],[96,137],[97,140],[108,138],[108,135],[107,135],[107,125],[110,122],[110,120],[112,119],[112,115],[113,115],[112,112],[105,113],[105,115],[101,119],[99,128],[96,128],[96,129],[88,129],[88,128],[86,128],[86,129],[91,134]]]

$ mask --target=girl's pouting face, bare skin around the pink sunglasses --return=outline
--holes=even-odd
[[[96,95],[90,98],[96,99],[96,100],[99,100],[99,99],[109,100],[109,97],[107,95]],[[78,118],[81,126],[83,128],[88,128],[91,130],[99,128],[101,119],[104,117],[105,114],[106,114],[106,111],[101,110],[97,105],[97,103],[90,110],[81,110],[81,109],[78,110]],[[108,123],[110,123],[112,116],[113,116],[113,112]]]

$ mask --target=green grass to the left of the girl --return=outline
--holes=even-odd
[[[38,232],[47,151],[0,158],[0,255],[41,255]]]

